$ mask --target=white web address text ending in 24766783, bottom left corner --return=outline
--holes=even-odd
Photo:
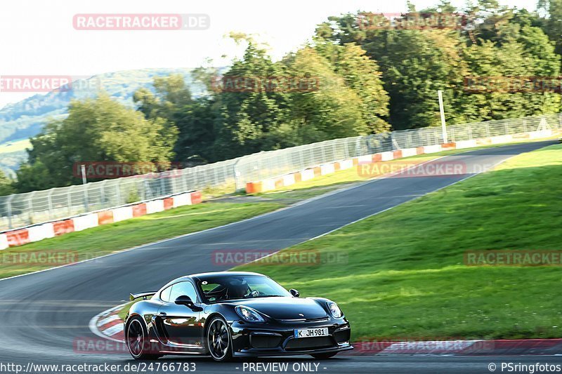
[[[197,371],[194,362],[131,363],[20,363],[0,362],[0,373],[188,373]]]

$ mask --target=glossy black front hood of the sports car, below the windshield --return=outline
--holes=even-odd
[[[240,300],[236,305],[244,305],[273,319],[318,319],[328,316],[326,310],[308,298],[255,298]]]

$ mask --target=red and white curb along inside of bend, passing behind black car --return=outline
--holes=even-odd
[[[90,330],[108,340],[124,342],[123,320],[118,314],[126,304],[101,312],[90,321]],[[426,340],[369,341],[353,343],[353,351],[342,356],[373,355],[451,355],[451,356],[510,356],[562,355],[562,339],[514,340]]]

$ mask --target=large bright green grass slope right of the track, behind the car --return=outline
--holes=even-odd
[[[339,303],[353,340],[560,338],[561,267],[467,267],[469,250],[562,249],[562,145],[285,251],[344,263],[237,267]]]

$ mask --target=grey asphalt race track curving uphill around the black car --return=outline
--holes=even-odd
[[[551,144],[554,141],[447,156],[433,162],[466,163],[466,174],[372,180],[225,227],[0,281],[0,363],[20,363],[24,367],[29,362],[133,363],[126,354],[74,352],[77,340],[97,339],[89,330],[90,319],[121,304],[130,292],[157,290],[184,274],[224,269],[214,265],[212,251],[286,248],[468,178],[471,171],[480,171],[482,166]],[[351,324],[353,328],[353,321]],[[192,356],[166,356],[159,361],[195,362],[201,373],[248,373],[243,370],[248,361],[217,364]],[[499,363],[509,361],[561,364],[562,356],[336,356],[327,361],[297,357],[249,362],[289,363],[289,373],[294,363],[312,364],[312,368],[314,363],[320,363],[318,371],[325,373],[490,373],[488,364],[493,362],[497,364],[495,371],[501,373]]]

